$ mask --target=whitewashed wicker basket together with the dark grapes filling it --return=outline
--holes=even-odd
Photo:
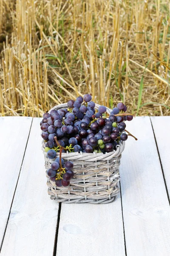
[[[55,106],[40,123],[48,194],[63,203],[109,203],[119,193],[119,165],[127,140],[123,120],[127,115],[121,111],[117,118],[114,113],[119,113],[118,108],[112,111],[89,100],[81,105],[82,97],[77,99],[77,104],[78,100],[70,100]]]

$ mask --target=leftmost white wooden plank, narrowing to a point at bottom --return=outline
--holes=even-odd
[[[0,117],[0,244],[31,128],[31,117]]]

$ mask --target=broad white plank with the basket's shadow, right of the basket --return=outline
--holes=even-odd
[[[170,255],[170,207],[149,117],[136,117],[120,167],[127,256]]]

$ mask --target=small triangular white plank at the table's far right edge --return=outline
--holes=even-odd
[[[170,195],[170,116],[154,116],[151,117],[151,122]]]

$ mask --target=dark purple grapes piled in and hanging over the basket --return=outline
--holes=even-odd
[[[58,151],[105,154],[116,150],[119,140],[125,141],[128,136],[134,137],[125,130],[125,121],[131,121],[133,115],[125,113],[127,107],[123,103],[118,103],[117,107],[113,108],[111,114],[108,115],[105,106],[99,106],[96,112],[95,103],[91,99],[90,94],[85,94],[83,98],[77,97],[76,101],[69,100],[68,108],[52,110],[50,114],[44,113],[40,122],[41,136],[46,143],[45,152],[49,159],[54,159]],[[47,175],[55,173],[53,177],[48,176],[53,181],[56,180],[56,185],[68,186],[70,180],[66,177],[74,175],[74,173],[70,173],[73,172],[71,167],[69,169],[66,167],[71,162],[66,162],[64,167],[57,166],[58,158],[54,162],[55,167],[52,168],[54,163],[51,164]]]

